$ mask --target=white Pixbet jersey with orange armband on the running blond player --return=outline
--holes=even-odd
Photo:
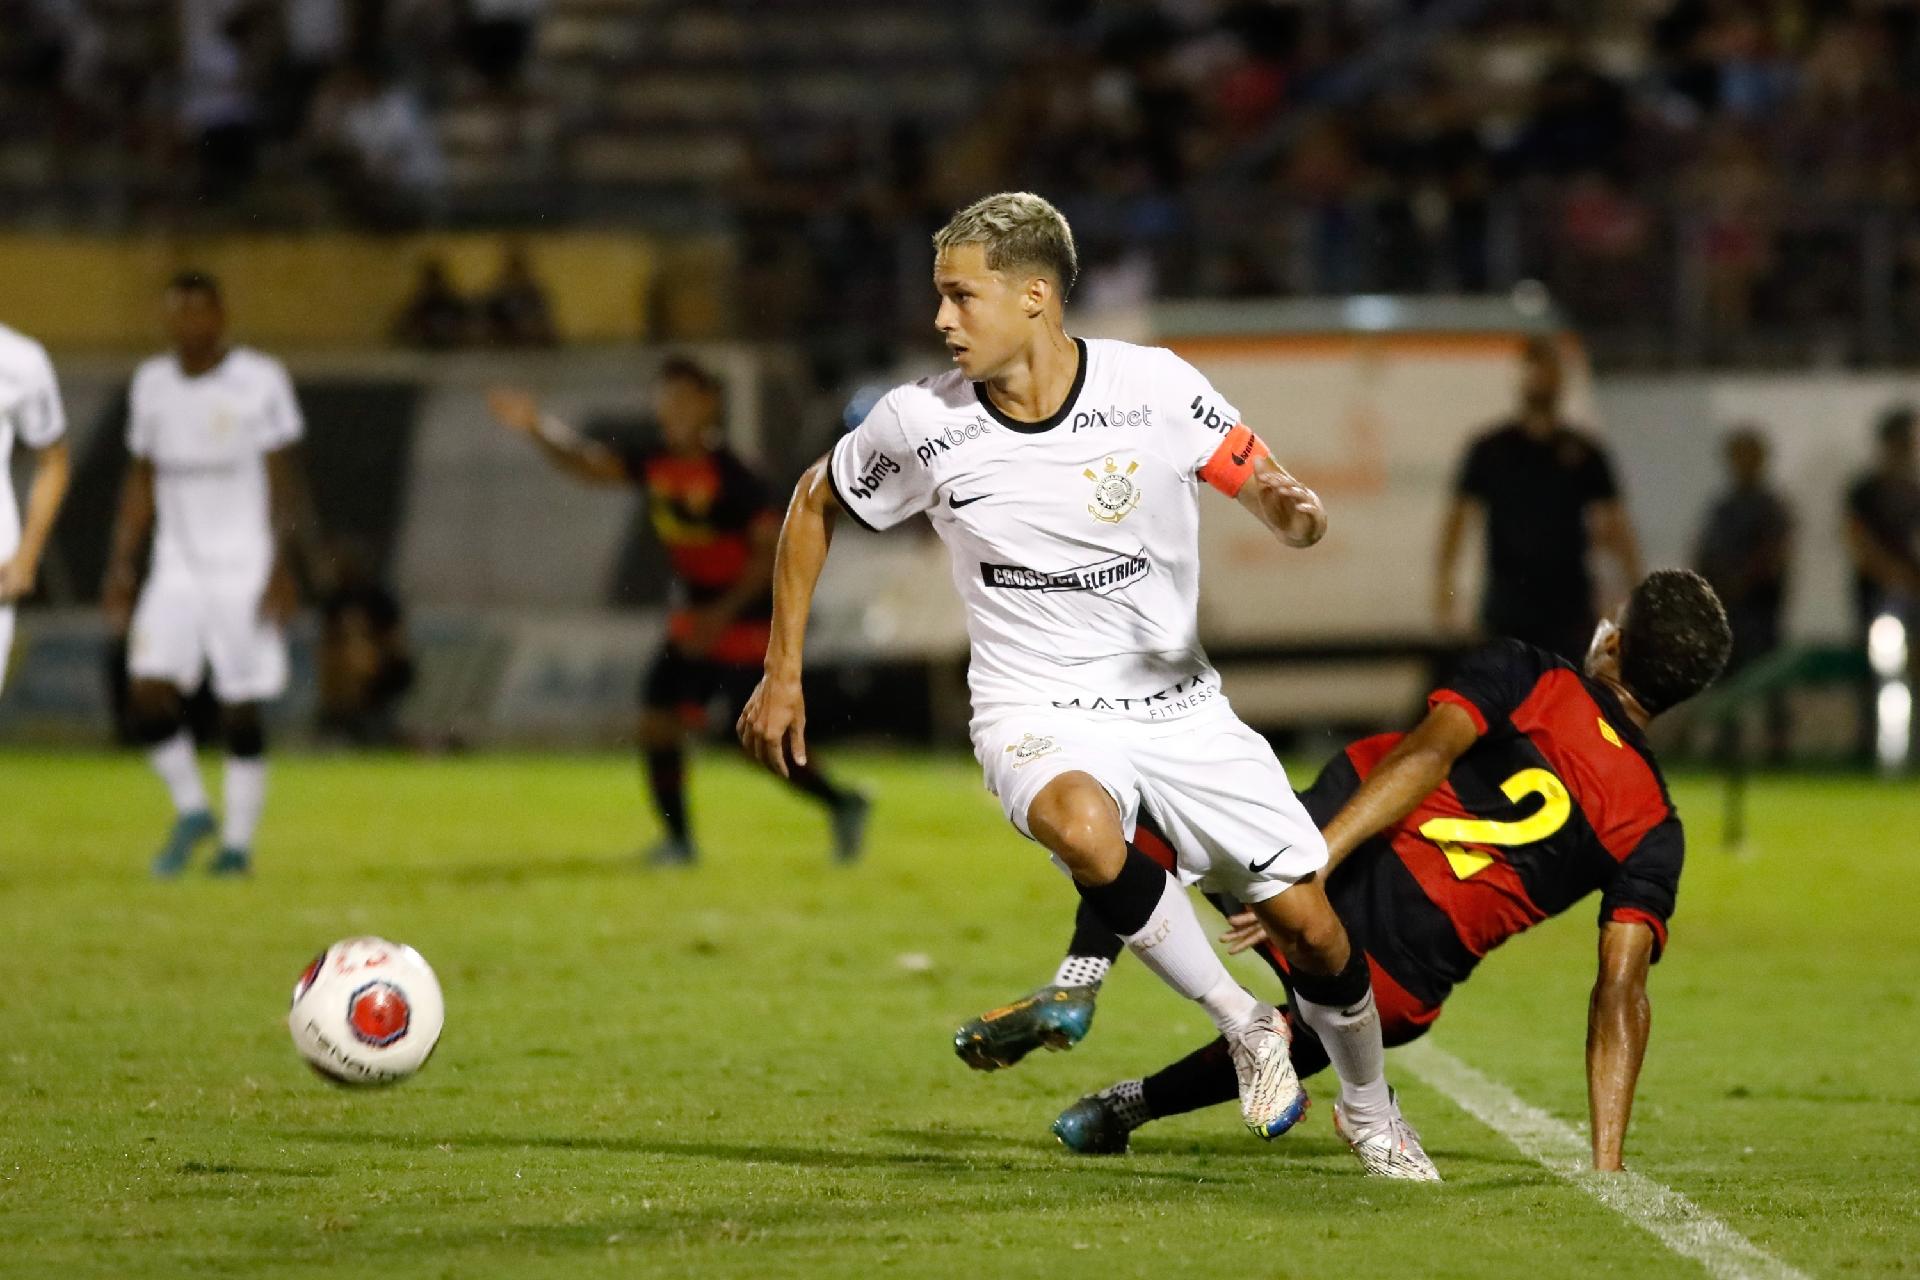
[[[895,388],[833,447],[833,493],[872,530],[925,512],[947,543],[975,718],[1173,720],[1219,691],[1196,620],[1200,480],[1236,493],[1263,445],[1171,351],[1075,342],[1044,422],[960,370]]]

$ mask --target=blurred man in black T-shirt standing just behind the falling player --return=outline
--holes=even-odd
[[[1526,344],[1519,413],[1473,441],[1440,530],[1434,624],[1455,631],[1453,570],[1467,530],[1486,535],[1480,628],[1578,662],[1597,618],[1588,551],[1597,543],[1620,581],[1640,581],[1613,461],[1561,415],[1565,374],[1551,338]]]

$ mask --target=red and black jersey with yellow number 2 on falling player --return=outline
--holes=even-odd
[[[1615,695],[1519,641],[1471,654],[1428,697],[1480,729],[1446,783],[1367,841],[1329,896],[1356,942],[1438,1007],[1490,950],[1599,890],[1599,921],[1653,929],[1680,890],[1680,818]],[[1325,827],[1405,735],[1354,743],[1300,798]]]

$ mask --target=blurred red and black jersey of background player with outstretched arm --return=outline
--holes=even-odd
[[[753,562],[756,530],[778,530],[766,482],[730,449],[697,457],[647,449],[626,455],[634,486],[647,495],[647,520],[674,566],[676,608],[668,639],[693,624],[691,608],[732,591]],[[774,593],[751,601],[707,654],[722,664],[758,664],[766,656]]]

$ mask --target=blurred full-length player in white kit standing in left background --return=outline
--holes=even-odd
[[[219,284],[167,286],[169,355],[140,365],[127,405],[132,461],[108,564],[109,622],[127,631],[134,731],[175,823],[154,875],[179,875],[215,833],[180,700],[213,670],[227,743],[215,875],[252,869],[267,802],[261,702],[286,691],[284,626],[298,604],[288,539],[300,405],[271,355],[227,345]],[[146,585],[138,555],[154,535]]]

